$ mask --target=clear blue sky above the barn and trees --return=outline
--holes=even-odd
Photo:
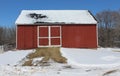
[[[0,26],[13,26],[22,10],[119,10],[120,0],[0,0]]]

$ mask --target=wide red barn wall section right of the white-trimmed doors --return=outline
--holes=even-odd
[[[96,48],[96,24],[62,25],[62,47]]]

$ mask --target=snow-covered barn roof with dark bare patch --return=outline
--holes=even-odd
[[[88,10],[22,10],[16,24],[96,24]]]

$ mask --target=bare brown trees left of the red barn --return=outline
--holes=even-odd
[[[4,45],[5,50],[15,48],[16,45],[15,26],[0,27],[0,45]]]

